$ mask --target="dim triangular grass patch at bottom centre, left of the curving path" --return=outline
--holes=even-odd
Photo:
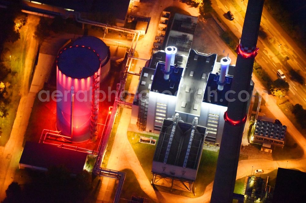
[[[131,169],[124,169],[122,172],[126,173],[125,181],[121,191],[120,199],[130,200],[132,196],[147,198],[150,202],[154,202],[150,197],[141,189],[135,174]],[[126,202],[126,201],[123,201]]]

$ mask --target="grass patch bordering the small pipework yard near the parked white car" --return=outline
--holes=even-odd
[[[268,185],[270,185],[271,187],[274,187],[276,175],[277,175],[277,169],[271,171],[270,173],[255,174],[255,176],[257,177],[260,176],[263,179],[267,179],[267,176],[269,176]],[[234,193],[242,194],[244,187],[244,180],[245,177],[236,180]]]

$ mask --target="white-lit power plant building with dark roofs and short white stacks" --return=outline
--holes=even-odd
[[[228,57],[217,62],[216,54],[191,49],[188,58],[175,54],[175,65],[170,60],[169,79],[165,80],[167,55],[170,54],[155,52],[149,68],[144,68],[140,75],[132,105],[132,116],[137,118],[139,129],[159,134],[163,120],[176,113],[185,123],[198,117],[198,124],[207,128],[205,141],[218,146],[226,119],[226,92],[230,90],[235,66],[230,65]]]

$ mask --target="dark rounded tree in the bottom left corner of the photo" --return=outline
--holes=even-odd
[[[22,201],[22,190],[17,182],[12,182],[5,191],[6,198],[3,203],[19,203]]]

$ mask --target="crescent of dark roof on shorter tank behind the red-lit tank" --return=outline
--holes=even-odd
[[[108,55],[109,48],[102,40],[94,36],[80,37],[76,39],[72,45],[86,45],[91,47],[99,54],[101,61],[103,61]]]

